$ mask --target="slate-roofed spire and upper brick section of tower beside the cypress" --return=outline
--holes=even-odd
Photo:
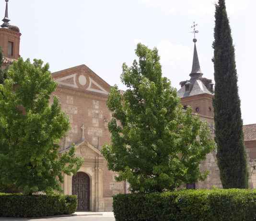
[[[190,79],[181,81],[181,88],[177,91],[177,95],[181,98],[181,103],[184,108],[191,106],[193,112],[200,114],[201,116],[209,118],[209,121],[213,122],[213,83],[211,79],[203,77],[203,72],[201,71],[198,51],[197,51],[197,39],[196,30],[197,24],[193,24],[194,33],[194,55],[192,70],[189,74]]]

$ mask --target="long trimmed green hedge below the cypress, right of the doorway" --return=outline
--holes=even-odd
[[[116,221],[255,221],[256,191],[245,189],[181,190],[119,194]]]

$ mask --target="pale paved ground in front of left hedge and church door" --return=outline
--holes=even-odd
[[[0,218],[0,221],[115,221],[113,212],[99,213],[77,213],[77,216],[41,218],[41,219],[18,219],[18,218]]]

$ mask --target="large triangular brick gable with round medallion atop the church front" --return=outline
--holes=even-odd
[[[59,87],[68,87],[88,93],[108,95],[111,86],[85,65],[72,67],[52,74]]]

